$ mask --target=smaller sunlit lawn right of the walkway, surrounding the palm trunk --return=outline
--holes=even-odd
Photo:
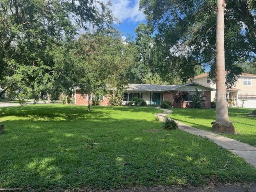
[[[174,108],[171,118],[184,124],[211,130],[211,122],[215,121],[215,109],[182,109]],[[233,122],[237,134],[222,134],[226,137],[256,146],[256,116],[248,116],[254,109],[228,108],[230,121]]]

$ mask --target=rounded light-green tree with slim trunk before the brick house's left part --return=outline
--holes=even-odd
[[[87,33],[80,36],[78,50],[78,87],[90,98],[106,94],[110,88],[127,84],[130,66],[134,64],[133,44],[122,40],[114,31]],[[90,99],[88,98],[90,111]]]

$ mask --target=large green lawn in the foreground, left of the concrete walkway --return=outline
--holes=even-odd
[[[188,110],[189,111],[189,110]],[[161,129],[154,107],[0,108],[0,188],[93,189],[256,182],[256,169],[210,140]]]

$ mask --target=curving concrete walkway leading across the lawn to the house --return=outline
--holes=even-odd
[[[163,110],[164,112],[155,114],[160,118],[161,121],[164,120],[167,114],[172,114],[172,110],[162,109],[160,107],[156,107],[157,109]],[[178,123],[178,127],[182,131],[186,131],[188,133],[209,138],[214,141],[217,145],[222,146],[223,148],[229,150],[230,152],[242,157],[248,163],[252,164],[256,168],[256,147],[250,146],[248,144],[242,143],[240,141],[230,139],[212,132],[200,130],[186,124]]]

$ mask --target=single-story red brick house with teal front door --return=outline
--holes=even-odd
[[[197,82],[182,85],[128,84],[122,104],[125,105],[136,97],[143,98],[148,105],[160,105],[163,100],[168,100],[173,107],[186,108],[192,101],[192,94],[194,94],[196,88],[198,91],[202,91],[202,95],[205,96],[205,107],[210,108],[211,91],[215,91],[215,89]],[[175,102],[175,96],[179,93],[184,94],[183,103]],[[90,100],[92,100],[92,98],[90,98]],[[87,94],[81,94],[79,89],[76,89],[75,105],[88,105],[88,101],[89,96]],[[101,98],[100,105],[111,105],[108,96]]]

